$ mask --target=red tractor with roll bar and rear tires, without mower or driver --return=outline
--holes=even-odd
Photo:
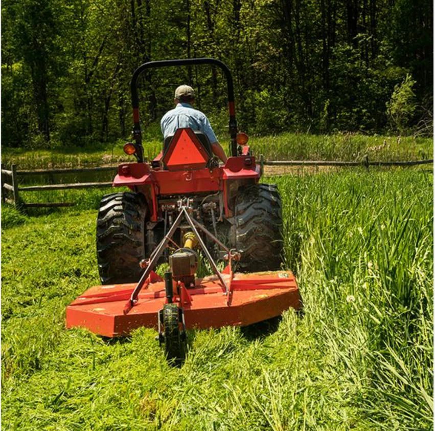
[[[144,163],[137,81],[149,68],[214,64],[225,73],[230,111],[231,156],[224,166],[213,157],[207,136],[180,129],[163,143],[163,151]],[[122,164],[113,182],[130,192],[105,196],[97,221],[97,255],[103,284],[136,282],[138,262],[148,258],[176,218],[177,203],[189,200],[196,219],[231,249],[242,251],[244,272],[280,269],[283,251],[281,197],[275,185],[258,184],[260,166],[249,152],[247,136],[237,133],[233,78],[219,60],[151,61],[131,80],[135,143],[126,144],[137,163]],[[190,229],[189,227],[185,227]],[[180,227],[175,242],[185,233]],[[217,259],[216,247],[207,245]],[[167,258],[167,257],[166,257]]]

